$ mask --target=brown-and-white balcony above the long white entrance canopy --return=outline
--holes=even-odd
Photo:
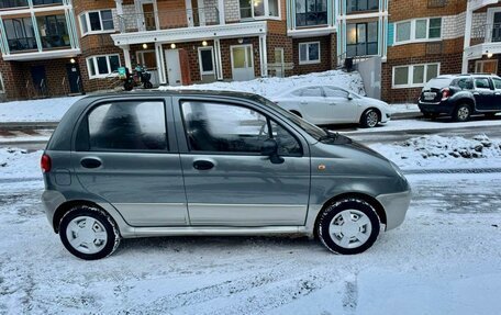
[[[121,33],[219,25],[218,8],[178,9],[119,15]]]

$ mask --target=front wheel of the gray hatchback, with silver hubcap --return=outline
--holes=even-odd
[[[347,198],[331,203],[322,212],[316,234],[332,252],[355,255],[374,245],[380,226],[372,205],[357,198]]]

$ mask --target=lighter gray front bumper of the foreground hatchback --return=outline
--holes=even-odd
[[[386,230],[393,229],[403,223],[411,203],[411,190],[407,190],[398,193],[380,194],[376,198],[385,209],[387,216]]]

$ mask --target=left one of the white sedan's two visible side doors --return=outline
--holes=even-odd
[[[321,87],[308,87],[300,90],[299,109],[303,119],[313,124],[326,124],[327,102]]]

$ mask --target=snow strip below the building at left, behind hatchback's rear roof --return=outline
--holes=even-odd
[[[0,123],[58,122],[66,111],[81,98],[67,97],[0,103]]]

